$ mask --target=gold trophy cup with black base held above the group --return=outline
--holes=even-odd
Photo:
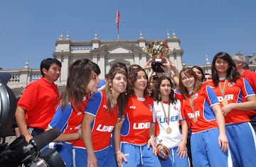
[[[164,72],[164,69],[161,68],[164,66],[163,64],[166,63],[166,59],[164,57],[170,53],[169,46],[166,44],[166,42],[151,42],[151,44],[149,44],[146,48],[142,47],[142,50],[152,57],[152,69],[156,72]]]

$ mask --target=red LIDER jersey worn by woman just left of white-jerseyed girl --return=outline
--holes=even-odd
[[[121,129],[121,142],[143,145],[148,142],[149,127],[153,121],[154,100],[150,97],[138,99],[130,96],[125,108],[124,123]]]

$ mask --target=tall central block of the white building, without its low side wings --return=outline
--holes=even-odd
[[[171,59],[178,69],[182,69],[183,50],[180,45],[181,41],[176,34],[173,32],[170,36],[167,33],[166,39],[159,41],[166,42],[172,50],[166,57]],[[127,67],[131,64],[139,64],[143,67],[151,57],[142,50],[142,47],[146,47],[151,42],[154,40],[146,40],[142,32],[137,40],[100,40],[95,32],[94,38],[90,41],[72,41],[68,34],[66,38],[63,38],[63,34],[61,34],[55,42],[55,52],[53,52],[53,57],[59,59],[63,65],[60,84],[66,83],[68,66],[76,59],[87,58],[98,64],[101,70],[101,79],[104,78],[114,62],[123,62],[127,64]]]

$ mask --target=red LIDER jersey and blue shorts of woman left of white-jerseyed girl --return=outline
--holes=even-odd
[[[120,139],[121,151],[127,159],[122,163],[124,167],[161,166],[158,157],[152,154],[152,148],[147,148],[153,107],[153,98],[128,98]]]

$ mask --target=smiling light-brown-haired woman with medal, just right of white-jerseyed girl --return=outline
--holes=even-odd
[[[191,129],[193,166],[228,166],[228,138],[218,98],[210,86],[202,86],[193,69],[179,74],[183,115]]]

